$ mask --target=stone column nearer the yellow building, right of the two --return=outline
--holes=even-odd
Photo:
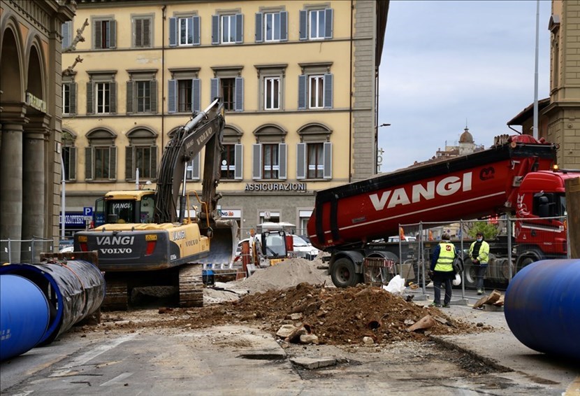
[[[29,240],[46,237],[45,141],[48,134],[50,134],[48,117],[43,115],[31,117],[29,124],[24,127],[22,149],[22,239]],[[29,243],[27,243],[27,246],[30,246]],[[35,253],[40,253],[42,249],[41,243],[35,244],[33,249]],[[28,260],[29,258],[33,257],[27,257],[27,254],[23,253],[23,260]]]

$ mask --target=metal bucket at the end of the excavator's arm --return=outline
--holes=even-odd
[[[207,234],[208,229],[201,229],[201,232]],[[214,268],[231,264],[238,247],[238,223],[235,220],[217,220],[210,234],[210,254],[198,262],[213,264]]]

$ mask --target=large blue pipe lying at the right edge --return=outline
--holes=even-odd
[[[535,351],[580,361],[580,260],[542,260],[521,269],[505,292],[505,319]]]

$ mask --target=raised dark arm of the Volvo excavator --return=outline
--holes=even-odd
[[[154,211],[155,222],[182,222],[185,212],[185,194],[183,191],[180,195],[180,188],[185,185],[184,175],[187,163],[193,160],[204,147],[205,162],[201,200],[208,207],[201,208],[198,213],[200,220],[206,220],[206,209],[210,215],[210,221],[215,222],[219,218],[217,201],[221,195],[216,193],[216,189],[220,176],[219,161],[223,150],[224,125],[224,104],[219,99],[215,99],[208,108],[197,113],[184,127],[175,132],[175,136],[168,142],[161,158]],[[177,202],[179,197],[181,199]],[[179,217],[177,216],[178,205]]]

